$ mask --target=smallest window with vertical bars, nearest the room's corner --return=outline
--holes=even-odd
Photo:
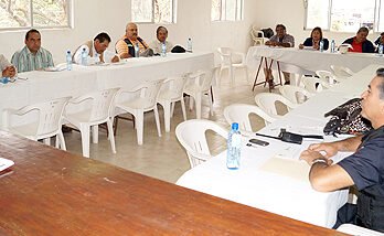
[[[212,21],[243,20],[243,0],[212,0]]]

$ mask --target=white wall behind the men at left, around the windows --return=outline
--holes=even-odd
[[[255,20],[256,3],[255,0],[245,0],[244,21],[211,22],[211,0],[179,0],[177,23],[166,25],[169,40],[185,46],[188,37],[192,37],[193,47],[199,51],[231,46],[246,52],[250,44],[249,29]],[[42,46],[52,52],[55,63],[64,62],[67,50],[75,50],[102,31],[113,37],[109,50],[114,50],[130,21],[130,0],[74,0],[74,29],[41,30]],[[139,24],[139,35],[150,43],[156,39],[158,26]],[[24,46],[25,32],[0,32],[0,53],[10,60],[15,51]]]

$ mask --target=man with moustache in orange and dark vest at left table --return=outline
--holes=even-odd
[[[143,53],[149,46],[138,36],[137,25],[128,23],[126,28],[126,35],[116,43],[116,52],[120,58],[135,57],[135,45],[139,45],[139,52]]]

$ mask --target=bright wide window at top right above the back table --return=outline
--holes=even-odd
[[[305,0],[306,29],[321,26],[335,32],[356,32],[366,26],[383,31],[384,7],[381,8],[381,2],[384,0]]]

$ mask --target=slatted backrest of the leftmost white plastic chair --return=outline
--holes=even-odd
[[[36,136],[49,135],[61,129],[64,108],[70,99],[71,97],[62,97],[31,106],[32,109],[40,111]]]

